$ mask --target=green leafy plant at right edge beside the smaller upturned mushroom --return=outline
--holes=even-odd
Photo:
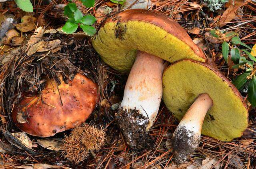
[[[219,30],[212,29],[210,33],[217,38],[220,38],[221,35],[224,35]],[[231,41],[228,43],[225,40],[225,37],[232,37]],[[248,86],[248,101],[252,106],[256,106],[256,58],[247,50],[252,48],[241,42],[241,39],[235,32],[229,32],[225,34],[225,37],[222,43],[222,55],[226,62],[228,62],[228,54],[230,53],[230,58],[233,61],[233,69],[242,69],[243,73],[236,77],[232,83],[236,86],[238,90],[242,90],[247,84]],[[246,49],[239,49],[238,45],[245,47]],[[231,50],[229,50],[231,49]],[[242,55],[241,55],[242,54]]]

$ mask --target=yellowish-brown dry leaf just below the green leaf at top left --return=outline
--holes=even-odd
[[[36,18],[33,16],[23,16],[21,23],[15,25],[19,31],[27,32],[36,28]]]

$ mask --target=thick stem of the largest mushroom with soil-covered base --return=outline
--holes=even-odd
[[[138,51],[116,116],[128,145],[133,149],[143,149],[152,142],[147,133],[160,106],[165,67],[163,59]]]

